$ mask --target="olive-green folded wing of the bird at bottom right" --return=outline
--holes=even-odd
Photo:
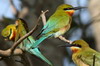
[[[82,54],[80,56],[80,58],[84,63],[86,63],[90,66],[93,66],[94,55],[95,55],[95,66],[100,66],[100,53],[98,53],[94,50],[85,52],[84,54]]]

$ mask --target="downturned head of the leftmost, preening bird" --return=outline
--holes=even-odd
[[[8,40],[15,40],[16,32],[16,25],[11,24],[4,28],[1,34],[3,37],[8,38]]]

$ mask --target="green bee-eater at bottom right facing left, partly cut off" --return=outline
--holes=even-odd
[[[84,40],[76,40],[72,44],[62,46],[71,48],[72,60],[77,66],[100,66],[100,53],[90,48]]]

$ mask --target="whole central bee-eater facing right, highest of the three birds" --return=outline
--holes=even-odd
[[[33,48],[37,47],[43,40],[48,37],[59,37],[69,30],[72,22],[72,15],[75,10],[80,8],[73,7],[68,4],[62,4],[58,6],[55,13],[48,19],[46,25],[42,28],[39,35],[41,37],[36,40]],[[38,36],[39,36],[38,35]]]

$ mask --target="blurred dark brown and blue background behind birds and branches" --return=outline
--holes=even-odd
[[[64,35],[71,41],[83,39],[90,44],[90,47],[100,51],[100,0],[0,0],[0,32],[9,24],[14,24],[17,18],[23,18],[27,21],[29,30],[31,30],[42,10],[49,10],[46,13],[47,19],[54,13],[56,7],[60,4],[70,4],[74,7],[87,7],[76,11],[73,15],[71,29]],[[43,27],[39,23],[37,31],[32,34],[34,38]],[[0,49],[11,47],[11,41],[5,41],[0,34]],[[65,44],[59,39],[46,39],[42,42],[40,50],[54,66],[75,66],[71,60],[69,48],[58,48],[60,44]],[[26,53],[30,66],[49,66],[36,56]],[[15,60],[20,57],[10,57],[0,60],[0,66],[27,66]]]

